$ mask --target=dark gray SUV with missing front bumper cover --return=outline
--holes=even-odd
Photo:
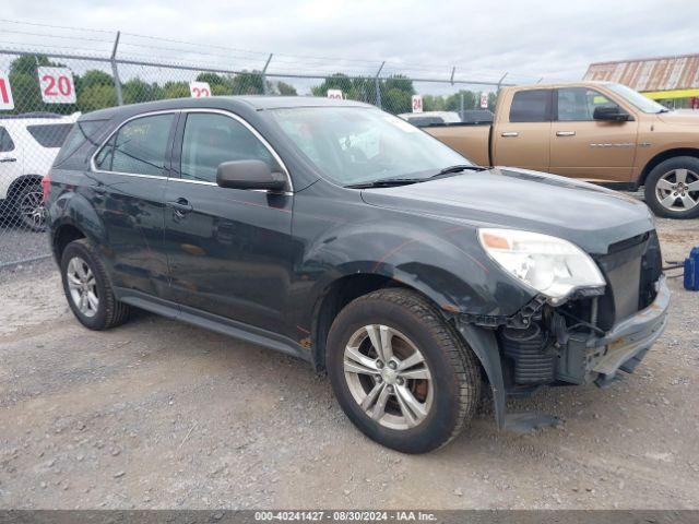
[[[45,180],[85,326],[132,307],[327,370],[371,439],[420,453],[493,391],[608,384],[666,322],[653,218],[619,193],[472,165],[359,103],[165,100],[80,118]]]

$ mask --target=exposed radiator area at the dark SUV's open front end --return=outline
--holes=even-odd
[[[595,260],[607,281],[606,293],[600,300],[597,325],[607,331],[655,298],[654,283],[662,273],[657,235],[648,231],[613,243],[607,254]]]

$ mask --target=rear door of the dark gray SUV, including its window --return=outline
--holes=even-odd
[[[156,296],[167,287],[163,196],[177,118],[158,112],[127,120],[93,158],[87,198],[105,228],[103,254],[115,286]]]

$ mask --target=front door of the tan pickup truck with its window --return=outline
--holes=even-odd
[[[600,106],[617,104],[590,87],[557,90],[550,172],[591,181],[630,181],[638,122],[594,120]]]

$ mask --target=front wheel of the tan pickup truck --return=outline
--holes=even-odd
[[[645,179],[645,203],[659,216],[699,216],[699,158],[677,156],[655,166]]]

